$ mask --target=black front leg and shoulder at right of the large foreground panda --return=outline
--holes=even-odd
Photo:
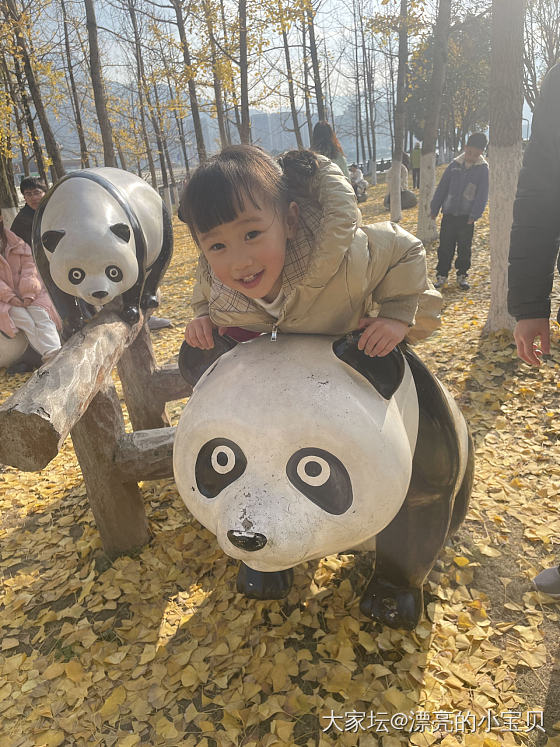
[[[414,354],[405,354],[419,405],[412,477],[399,513],[377,536],[375,572],[360,610],[389,627],[411,630],[424,611],[424,581],[450,528],[456,529],[466,513],[473,460],[469,446],[462,484],[457,488],[460,454],[454,417],[436,379]]]

